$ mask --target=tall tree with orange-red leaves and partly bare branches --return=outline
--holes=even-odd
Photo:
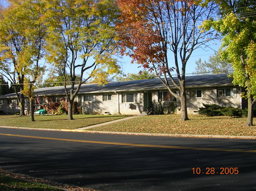
[[[156,72],[169,92],[181,101],[181,120],[188,120],[186,66],[194,50],[215,38],[213,31],[200,31],[198,27],[215,16],[216,5],[202,0],[116,0],[116,3],[122,14],[117,25],[121,53]],[[169,62],[170,55],[174,62]],[[171,89],[171,84],[179,93]]]

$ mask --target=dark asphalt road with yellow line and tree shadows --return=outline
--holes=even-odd
[[[0,168],[100,190],[256,190],[255,162],[255,140],[0,128]]]

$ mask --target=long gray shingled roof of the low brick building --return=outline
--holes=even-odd
[[[233,86],[232,78],[227,77],[226,74],[218,75],[199,75],[186,76],[186,88],[202,88],[209,86]],[[178,81],[175,78],[175,81]],[[170,83],[171,84],[171,83]],[[70,86],[69,86],[70,87]],[[175,89],[174,85],[171,88]],[[146,80],[132,80],[132,81],[117,81],[110,82],[103,86],[98,84],[82,84],[79,94],[85,93],[104,93],[104,92],[128,92],[139,90],[157,90],[166,89],[161,83],[160,79],[146,79]],[[35,94],[39,96],[54,96],[64,95],[64,86],[54,86],[49,88],[35,89]],[[0,96],[0,98],[16,97],[15,93]]]

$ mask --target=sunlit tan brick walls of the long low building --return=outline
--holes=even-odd
[[[225,87],[232,88],[233,87]],[[220,106],[232,106],[241,108],[241,92],[239,88],[236,88],[236,97],[214,97],[215,87],[212,88],[193,88],[187,89],[187,108],[188,114],[194,114],[194,111],[198,111],[200,107],[205,104],[216,104]],[[220,88],[219,88],[220,89]],[[202,98],[191,98],[191,90],[202,90]],[[158,90],[152,91],[152,102],[154,106],[159,106],[160,103],[163,106],[163,102],[158,102],[157,96]],[[124,92],[125,93],[125,92]],[[137,93],[137,102],[124,102],[122,103],[122,93],[106,93],[111,94],[111,100],[103,101],[103,93],[90,94],[95,96],[93,102],[84,101],[83,94],[79,95],[77,101],[79,101],[79,106],[82,108],[84,114],[129,114],[129,115],[140,115],[144,110],[144,92],[126,92],[126,93]],[[45,97],[45,102],[51,102],[50,97]],[[181,112],[180,102],[175,102],[177,104],[177,113]],[[3,104],[0,105],[0,110],[13,114],[19,111],[19,106],[16,104],[7,105],[7,100],[3,99]]]

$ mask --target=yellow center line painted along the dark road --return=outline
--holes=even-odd
[[[132,144],[132,143],[123,143],[123,142],[105,142],[105,141],[75,140],[75,139],[69,139],[69,138],[37,137],[37,136],[27,136],[27,135],[20,135],[20,134],[6,134],[6,133],[0,133],[0,135],[12,136],[12,137],[37,138],[37,139],[43,139],[43,140],[83,142],[83,143],[90,143],[90,144],[104,144],[104,145],[121,145],[121,146],[156,147],[156,148],[165,148],[165,149],[188,149],[188,150],[210,150],[210,151],[256,153],[256,150],[245,150],[245,149],[221,149],[221,148],[171,146],[171,145],[145,145],[145,144]]]

